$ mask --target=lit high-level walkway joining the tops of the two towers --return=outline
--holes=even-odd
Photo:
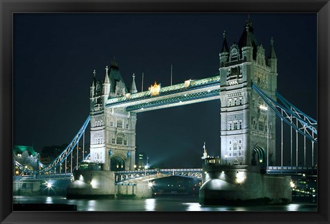
[[[127,93],[126,96],[107,100],[106,107],[126,107],[126,111],[143,112],[166,107],[175,107],[195,102],[220,98],[220,76],[200,80],[186,80],[184,83],[161,87],[151,86],[148,91]]]

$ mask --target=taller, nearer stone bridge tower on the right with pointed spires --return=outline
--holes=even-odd
[[[231,165],[275,163],[275,119],[272,110],[252,91],[254,82],[276,100],[277,58],[274,41],[265,49],[254,36],[250,16],[238,43],[228,46],[223,32],[220,56],[221,159]],[[268,161],[267,161],[268,155]]]

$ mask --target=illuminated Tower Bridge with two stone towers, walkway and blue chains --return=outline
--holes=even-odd
[[[105,68],[104,79],[96,78],[94,70],[89,95],[89,117],[63,153],[41,170],[30,172],[15,161],[16,166],[26,174],[30,172],[34,175],[50,175],[63,172],[60,165],[66,162],[70,155],[72,157],[74,147],[90,123],[89,162],[98,164],[100,170],[78,170],[77,160],[75,180],[81,183],[73,185],[72,192],[80,189],[83,184],[83,186],[91,186],[94,190],[93,194],[114,194],[113,190],[107,189],[109,184],[147,182],[150,179],[168,175],[186,175],[202,178],[203,181],[215,178],[221,182],[224,180],[221,179],[224,178],[221,177],[221,173],[210,175],[201,169],[139,171],[134,167],[138,113],[207,100],[220,100],[221,154],[218,159],[214,159],[218,163],[217,166],[212,166],[210,170],[215,170],[214,173],[221,172],[220,168],[225,166],[225,170],[228,170],[233,181],[230,184],[236,184],[234,182],[236,173],[251,170],[254,172],[255,167],[259,168],[259,175],[262,172],[264,175],[270,175],[269,177],[303,172],[316,175],[317,160],[314,157],[316,154],[314,146],[318,142],[317,121],[294,107],[276,91],[278,59],[273,38],[270,38],[270,43],[271,47],[266,57],[263,45],[256,41],[249,18],[238,43],[228,45],[225,32],[223,33],[223,43],[219,54],[219,73],[200,80],[186,80],[168,87],[162,87],[161,84],[155,82],[148,91],[142,92],[137,91],[134,75],[131,87],[126,87],[118,63],[113,60],[110,67]],[[276,151],[276,116],[281,119],[281,152]],[[283,138],[285,138],[283,124],[291,128],[291,142],[293,138],[296,139],[296,158],[292,157],[293,148],[291,147],[291,166],[283,166],[285,154],[283,152]],[[298,161],[301,160],[298,157],[300,155],[298,137],[303,137],[305,144],[303,166],[298,166]],[[309,151],[311,161],[306,159],[306,141],[311,144]],[[276,161],[276,153],[281,154],[281,161]],[[294,161],[296,166],[294,166]],[[276,166],[277,164],[281,166]],[[245,169],[243,166],[254,168]],[[257,175],[253,178],[260,180]],[[95,187],[96,179],[98,179],[97,187]],[[273,184],[273,182],[265,181],[266,187],[268,184]],[[227,182],[225,186],[228,186]],[[250,187],[246,188],[250,189]],[[237,186],[233,188],[239,189]],[[91,190],[88,191],[91,192]],[[77,190],[76,193],[85,194],[86,192]]]

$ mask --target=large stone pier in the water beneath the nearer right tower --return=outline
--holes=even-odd
[[[257,166],[203,167],[201,205],[252,205],[292,201],[289,176],[263,175]]]

